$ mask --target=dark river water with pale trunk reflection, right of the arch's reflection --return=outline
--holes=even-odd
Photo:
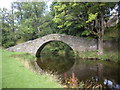
[[[70,75],[74,72],[79,81],[87,81],[87,83],[89,81],[91,83],[97,82],[98,85],[101,84],[103,87],[110,88],[110,84],[104,85],[105,80],[107,80],[109,83],[112,82],[112,87],[115,88],[119,86],[119,80],[117,78],[119,77],[118,68],[119,66],[115,63],[79,60],[67,74]],[[90,83],[88,83],[89,85]]]

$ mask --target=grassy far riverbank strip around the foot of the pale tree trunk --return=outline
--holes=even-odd
[[[98,55],[97,51],[87,51],[77,53],[77,57],[85,60],[104,60],[120,63],[120,52],[104,52],[103,55]]]

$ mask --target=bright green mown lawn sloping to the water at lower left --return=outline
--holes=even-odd
[[[38,75],[25,68],[13,55],[20,53],[2,50],[2,88],[61,88],[51,75]],[[22,54],[21,54],[22,55]],[[27,57],[26,57],[27,58]],[[30,57],[29,57],[30,58]]]

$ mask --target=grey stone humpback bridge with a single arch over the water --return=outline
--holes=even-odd
[[[35,40],[7,48],[8,51],[31,53],[37,57],[46,44],[53,41],[61,41],[70,46],[75,52],[97,50],[97,40],[88,40],[83,37],[76,37],[64,34],[49,34]]]

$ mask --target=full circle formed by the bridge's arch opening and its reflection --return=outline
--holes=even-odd
[[[61,41],[45,42],[37,51],[38,66],[52,73],[68,71],[75,63],[73,49]]]

